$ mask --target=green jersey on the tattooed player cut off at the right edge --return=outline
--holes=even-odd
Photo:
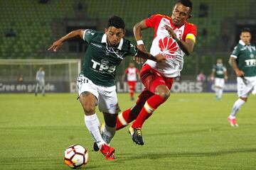
[[[231,57],[236,59],[238,69],[245,73],[245,77],[256,76],[256,50],[255,45],[245,45],[242,40],[235,46]]]

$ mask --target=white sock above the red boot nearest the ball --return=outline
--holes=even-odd
[[[97,118],[96,113],[93,115],[85,115],[85,125],[99,148],[102,144],[105,144],[100,134],[100,120]]]

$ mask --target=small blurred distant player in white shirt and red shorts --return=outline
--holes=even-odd
[[[131,100],[134,100],[134,91],[137,83],[137,77],[139,77],[139,70],[134,67],[134,62],[129,63],[129,67],[125,69],[124,77],[127,76],[127,83],[129,86],[129,96]]]

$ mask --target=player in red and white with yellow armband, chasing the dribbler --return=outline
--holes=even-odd
[[[174,6],[171,17],[155,14],[134,26],[134,36],[140,50],[146,51],[142,41],[142,30],[154,29],[154,40],[151,55],[163,54],[166,62],[156,63],[147,60],[140,72],[145,86],[144,91],[132,108],[120,113],[117,117],[117,130],[134,120],[129,128],[132,140],[144,145],[142,125],[144,121],[170,96],[174,78],[180,76],[183,68],[183,56],[190,55],[196,42],[196,26],[188,23],[191,18],[192,3],[190,0],[179,0]]]

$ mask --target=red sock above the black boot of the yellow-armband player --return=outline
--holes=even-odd
[[[142,125],[145,122],[145,120],[149,118],[152,115],[152,113],[156,110],[156,108],[165,101],[166,100],[164,98],[157,94],[151,96],[151,98],[149,98],[144,104],[142,111],[139,113],[134,123],[132,123],[132,128],[142,128]]]

